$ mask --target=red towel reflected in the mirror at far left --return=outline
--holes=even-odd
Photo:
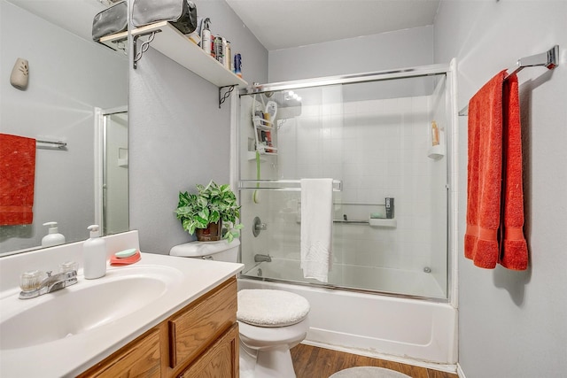
[[[0,134],[0,226],[34,221],[35,139]]]

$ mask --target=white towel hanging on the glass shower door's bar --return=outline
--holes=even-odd
[[[328,281],[332,214],[332,179],[301,179],[301,269],[305,278]]]

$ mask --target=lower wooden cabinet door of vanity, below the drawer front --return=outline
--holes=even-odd
[[[238,324],[235,324],[191,364],[180,378],[237,378]]]

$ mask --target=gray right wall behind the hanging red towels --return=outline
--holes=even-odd
[[[524,133],[525,272],[459,258],[459,361],[467,378],[565,376],[567,370],[567,2],[443,1],[435,58],[458,58],[459,105],[517,58],[560,45],[560,66],[519,73]],[[466,117],[460,118],[460,220],[466,208]]]

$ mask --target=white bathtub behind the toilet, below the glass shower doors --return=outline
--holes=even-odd
[[[268,275],[268,271],[282,264],[282,261],[272,259],[272,262],[254,266],[238,279],[238,288],[283,289],[306,297],[311,311],[305,343],[454,370],[457,313],[452,305],[246,278],[257,275],[258,269],[265,277],[276,278],[274,274]],[[334,274],[342,269],[333,266]],[[299,265],[295,274],[297,281],[306,281],[299,276]],[[288,275],[286,279],[294,280],[294,277]],[[398,280],[403,281],[403,278]]]

